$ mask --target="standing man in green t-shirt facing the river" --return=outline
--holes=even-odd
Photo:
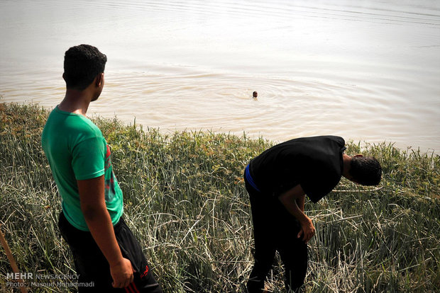
[[[106,61],[90,45],[65,52],[65,98],[41,137],[62,200],[58,226],[74,255],[79,292],[162,292],[121,217],[123,195],[109,145],[85,116],[104,87]]]

